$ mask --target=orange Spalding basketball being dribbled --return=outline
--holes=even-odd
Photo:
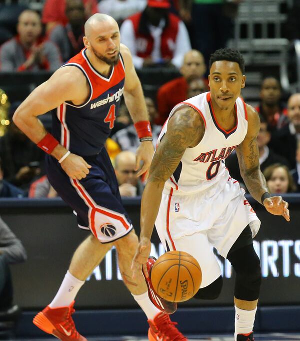
[[[202,272],[199,263],[190,254],[169,251],[156,260],[150,279],[160,297],[170,302],[184,302],[198,291]]]

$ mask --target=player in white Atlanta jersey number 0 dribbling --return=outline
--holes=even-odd
[[[244,60],[238,51],[220,49],[209,62],[210,92],[176,105],[165,122],[141,201],[141,232],[132,262],[133,276],[145,276],[155,223],[165,250],[191,254],[202,269],[195,298],[218,297],[222,278],[214,246],[235,272],[235,341],[252,341],[261,281],[252,237],[260,221],[237,181],[225,167],[235,149],[250,194],[274,215],[289,221],[287,202],[268,193],[259,169],[257,112],[240,96]],[[147,279],[149,281],[149,278]]]

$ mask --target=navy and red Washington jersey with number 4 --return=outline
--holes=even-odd
[[[86,77],[90,93],[85,103],[75,106],[64,102],[52,117],[52,134],[71,153],[95,155],[103,148],[113,128],[123,94],[125,68],[122,57],[105,77],[90,64],[86,49],[64,66],[73,66]]]

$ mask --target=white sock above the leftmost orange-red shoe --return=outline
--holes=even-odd
[[[75,296],[82,284],[84,284],[84,280],[79,280],[69,271],[66,271],[55,297],[49,304],[50,308],[70,305],[70,303],[75,299]]]

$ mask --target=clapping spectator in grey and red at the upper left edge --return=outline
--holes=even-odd
[[[0,49],[0,71],[54,71],[61,65],[57,47],[41,37],[39,15],[23,11],[17,24],[17,36]]]

